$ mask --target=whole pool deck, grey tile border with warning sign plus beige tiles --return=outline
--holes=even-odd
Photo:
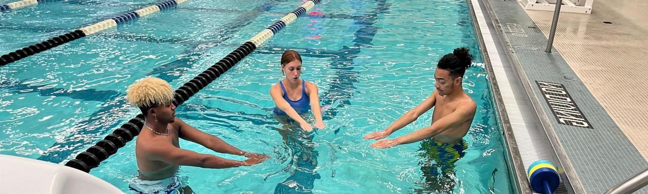
[[[524,10],[516,0],[479,1],[544,128],[538,141],[550,142],[571,192],[604,193],[648,167],[644,1],[595,0],[592,14],[562,12],[551,53],[544,50],[553,11]]]

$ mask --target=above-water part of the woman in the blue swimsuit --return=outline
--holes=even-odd
[[[304,118],[311,109],[315,116],[315,127],[323,129],[325,125],[319,107],[318,87],[314,83],[299,79],[301,75],[299,53],[286,50],[281,55],[281,71],[286,78],[270,88],[270,96],[277,105],[273,110],[275,118],[282,124],[296,122],[301,129],[310,133],[313,127]]]

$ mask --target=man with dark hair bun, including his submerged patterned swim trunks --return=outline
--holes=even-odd
[[[456,48],[439,60],[434,72],[435,91],[423,103],[400,116],[396,122],[382,131],[365,135],[365,139],[380,140],[394,131],[414,122],[432,107],[432,124],[413,133],[391,140],[371,144],[378,149],[421,141],[419,162],[424,180],[417,182],[421,188],[415,193],[452,193],[455,189],[454,166],[463,158],[468,145],[463,136],[468,133],[477,104],[463,91],[462,80],[470,67],[472,56],[465,47]]]

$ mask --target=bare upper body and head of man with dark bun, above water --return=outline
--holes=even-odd
[[[470,67],[470,61],[472,61],[472,55],[468,52],[469,48],[461,47],[454,49],[453,53],[443,56],[434,72],[436,90],[430,97],[403,114],[386,129],[365,135],[364,138],[373,140],[385,138],[435,107],[430,126],[399,138],[380,140],[371,144],[371,147],[382,149],[429,138],[438,144],[463,144],[462,138],[468,133],[477,109],[475,101],[463,91],[461,83],[463,74]]]

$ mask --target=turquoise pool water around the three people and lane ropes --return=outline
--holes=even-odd
[[[0,52],[155,2],[50,2],[5,12]],[[0,67],[0,154],[64,163],[139,113],[124,100],[133,81],[153,75],[177,88],[299,3],[188,1]],[[188,124],[272,158],[231,169],[181,167],[180,175],[199,193],[513,192],[468,9],[466,1],[323,1],[176,110]],[[463,86],[478,112],[455,173],[426,182],[422,168],[434,162],[423,153],[430,147],[377,150],[362,136],[429,96],[436,61],[456,47],[476,56]],[[285,143],[271,113],[268,90],[283,79],[285,49],[302,54],[302,78],[318,85],[325,107],[327,128],[310,142]],[[431,116],[390,137],[429,125]],[[129,142],[91,174],[128,191],[137,170],[134,146]],[[181,146],[242,159],[183,140]],[[299,160],[303,149],[314,150],[315,164]]]

